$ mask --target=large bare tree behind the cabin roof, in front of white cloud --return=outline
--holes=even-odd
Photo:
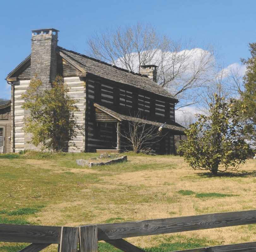
[[[158,84],[180,100],[176,109],[199,101],[216,63],[214,47],[174,41],[141,23],[99,31],[88,45],[90,56],[132,72],[139,72],[140,65],[158,66]]]

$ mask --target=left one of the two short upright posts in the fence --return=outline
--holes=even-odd
[[[59,252],[76,252],[78,244],[78,235],[78,227],[63,226],[61,230]]]

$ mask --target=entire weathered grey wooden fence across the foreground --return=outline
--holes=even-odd
[[[145,252],[143,249],[123,240],[123,238],[255,223],[256,210],[146,221],[85,225],[79,227],[0,224],[0,241],[31,243],[19,252],[38,252],[49,246],[51,243],[59,244],[59,252],[76,252],[78,244],[80,252],[96,252],[98,250],[98,241],[100,240],[110,243],[125,252]],[[256,251],[256,242],[182,251],[252,252]]]

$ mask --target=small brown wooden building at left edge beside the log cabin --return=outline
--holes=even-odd
[[[11,100],[0,100],[0,153],[11,152]]]

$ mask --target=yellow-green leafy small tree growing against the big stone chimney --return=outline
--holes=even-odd
[[[42,145],[43,149],[54,151],[67,150],[68,141],[76,135],[74,112],[78,108],[75,101],[67,95],[68,89],[63,78],[56,77],[51,89],[43,89],[42,81],[32,79],[22,108],[29,110],[30,115],[25,118],[25,132],[31,132],[30,143]]]

